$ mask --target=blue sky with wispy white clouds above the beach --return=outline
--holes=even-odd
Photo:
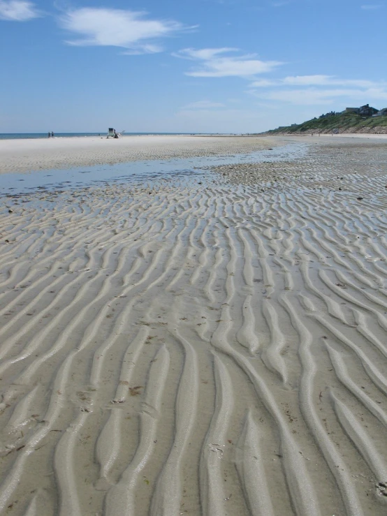
[[[387,0],[0,0],[0,132],[252,133],[387,106]]]

